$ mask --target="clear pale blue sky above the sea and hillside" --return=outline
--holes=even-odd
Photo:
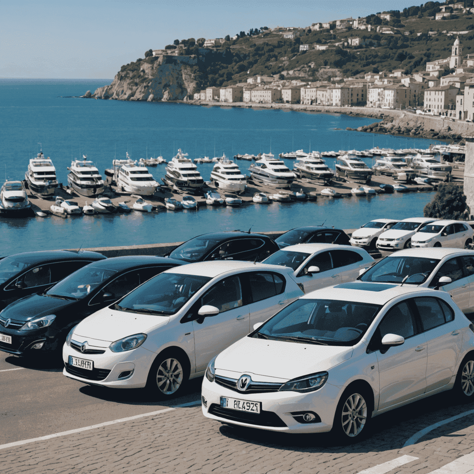
[[[113,78],[122,64],[174,39],[255,27],[309,26],[414,0],[2,0],[0,77]],[[312,5],[309,7],[308,5]]]

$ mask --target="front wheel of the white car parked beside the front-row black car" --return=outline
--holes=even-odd
[[[159,400],[179,397],[187,385],[189,373],[189,361],[184,353],[164,350],[150,368],[146,389]]]

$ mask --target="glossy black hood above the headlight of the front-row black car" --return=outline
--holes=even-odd
[[[10,303],[2,311],[1,317],[2,319],[11,318],[17,321],[29,321],[47,314],[55,314],[57,311],[62,311],[75,303],[77,301],[33,294]]]

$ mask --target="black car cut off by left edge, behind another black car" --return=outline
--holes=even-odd
[[[0,310],[24,296],[44,292],[84,265],[105,258],[85,250],[44,250],[1,258]]]

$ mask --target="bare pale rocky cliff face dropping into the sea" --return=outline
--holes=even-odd
[[[115,100],[187,100],[196,87],[195,56],[153,56],[122,66],[113,82],[83,97]]]

